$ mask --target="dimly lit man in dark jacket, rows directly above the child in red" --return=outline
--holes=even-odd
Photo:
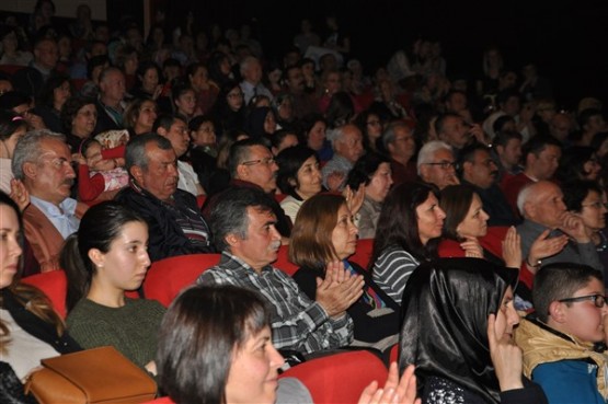
[[[125,74],[115,67],[105,68],[100,74],[100,95],[96,103],[97,123],[94,134],[106,130],[124,129]]]

